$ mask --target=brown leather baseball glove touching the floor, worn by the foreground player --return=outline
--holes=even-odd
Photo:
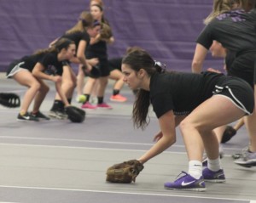
[[[111,183],[135,182],[137,175],[143,171],[143,164],[137,160],[125,161],[108,168],[106,180]]]

